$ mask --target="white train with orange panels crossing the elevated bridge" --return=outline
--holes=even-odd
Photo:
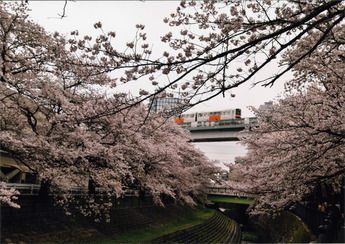
[[[174,122],[177,124],[187,122],[198,122],[198,121],[214,121],[224,119],[236,119],[241,118],[241,109],[227,109],[218,110],[211,112],[198,112],[198,113],[186,113],[180,114],[174,118]]]

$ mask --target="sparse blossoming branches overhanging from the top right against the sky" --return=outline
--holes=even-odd
[[[164,19],[169,32],[161,37],[168,45],[162,54],[153,51],[141,24],[125,51],[116,49],[115,32],[101,23],[95,24],[101,34],[94,40],[74,32],[71,50],[101,54],[97,67],[121,74],[119,82],[148,81],[140,102],[178,94],[188,108],[232,94],[246,82],[273,85],[333,35],[343,20],[343,1],[181,1]],[[315,39],[305,43],[294,62],[276,65],[306,36]],[[257,80],[258,75],[265,78]]]

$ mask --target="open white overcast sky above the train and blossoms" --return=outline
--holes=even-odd
[[[179,1],[69,1],[66,7],[66,17],[61,19],[64,1],[29,1],[32,11],[29,13],[32,20],[42,25],[48,31],[58,31],[69,34],[79,30],[81,36],[95,33],[93,24],[101,21],[103,28],[116,32],[116,42],[123,45],[134,38],[135,25],[144,24],[148,34],[148,42],[159,47],[160,37],[171,31],[163,23],[163,18],[173,13]],[[161,50],[160,50],[161,52]],[[273,71],[274,72],[274,71]],[[288,79],[289,77],[284,77]],[[284,80],[283,80],[284,81]],[[259,105],[282,93],[283,82],[275,84],[272,88],[263,88],[245,84],[233,89],[236,96],[230,98],[218,97],[192,111],[211,111],[227,108],[241,108],[244,117],[253,116],[248,106]]]

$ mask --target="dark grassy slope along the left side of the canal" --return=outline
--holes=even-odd
[[[211,218],[215,210],[167,205],[118,209],[110,223],[62,212],[19,212],[3,216],[1,243],[138,243]]]

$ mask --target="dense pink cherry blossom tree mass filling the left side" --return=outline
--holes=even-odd
[[[102,58],[71,52],[68,40],[28,20],[26,11],[0,5],[1,149],[36,172],[64,206],[77,200],[73,187],[88,186],[85,215],[107,210],[128,189],[160,205],[166,196],[205,201],[219,169],[188,143],[188,133],[164,114],[130,104],[127,94],[104,94],[115,79],[99,66]],[[0,199],[13,203],[14,194],[2,188]]]

